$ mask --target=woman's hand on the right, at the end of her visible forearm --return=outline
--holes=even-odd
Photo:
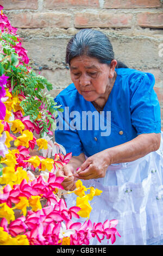
[[[78,169],[76,178],[78,179],[98,179],[104,178],[106,170],[110,164],[110,159],[105,151],[101,151],[95,155],[92,155],[86,159],[86,161]]]

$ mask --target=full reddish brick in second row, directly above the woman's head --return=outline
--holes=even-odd
[[[132,14],[78,13],[74,18],[76,28],[121,28],[131,27]]]

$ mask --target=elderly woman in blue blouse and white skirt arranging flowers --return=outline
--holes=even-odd
[[[73,83],[55,99],[64,109],[55,140],[72,152],[57,173],[65,178],[62,185],[73,191],[80,179],[103,191],[90,220],[117,219],[116,245],[160,243],[163,161],[154,76],[118,62],[108,37],[93,29],[80,30],[68,42],[66,63]],[[67,204],[76,204],[73,195]]]

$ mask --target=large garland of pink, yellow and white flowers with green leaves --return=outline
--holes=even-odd
[[[102,191],[76,182],[64,191],[55,176],[71,153],[53,142],[57,106],[52,84],[28,65],[27,51],[0,5],[0,245],[89,245],[92,237],[114,243],[117,220],[92,223],[91,200]],[[36,154],[37,152],[37,154]],[[67,208],[64,196],[77,195]],[[77,222],[72,221],[74,218]],[[87,218],[83,224],[78,219]]]

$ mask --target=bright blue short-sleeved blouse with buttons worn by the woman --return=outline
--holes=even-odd
[[[70,84],[55,98],[62,105],[55,141],[67,153],[87,157],[128,142],[141,133],[160,133],[161,117],[154,76],[134,69],[116,69],[117,77],[103,112],[99,113]],[[143,143],[143,142],[142,142]]]

